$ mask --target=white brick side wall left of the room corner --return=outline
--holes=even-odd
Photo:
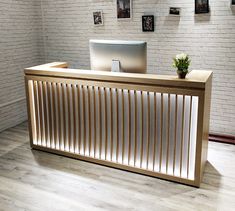
[[[26,120],[25,67],[44,62],[41,4],[0,0],[0,131]]]

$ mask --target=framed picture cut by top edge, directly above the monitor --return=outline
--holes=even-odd
[[[117,19],[131,19],[132,0],[116,0],[117,4]]]

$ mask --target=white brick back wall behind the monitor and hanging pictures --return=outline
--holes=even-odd
[[[210,0],[210,14],[194,15],[194,2],[133,0],[133,19],[117,21],[115,0],[42,0],[46,60],[89,68],[91,38],[146,40],[148,72],[175,74],[172,57],[186,52],[192,69],[214,71],[211,132],[235,135],[235,11],[230,0]],[[169,16],[170,6],[181,7],[181,17]],[[93,26],[95,10],[104,26]],[[155,15],[155,32],[142,32],[144,14]]]

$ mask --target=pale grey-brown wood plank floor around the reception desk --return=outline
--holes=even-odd
[[[0,133],[0,210],[235,210],[235,146],[209,144],[200,189],[31,151],[27,123]]]

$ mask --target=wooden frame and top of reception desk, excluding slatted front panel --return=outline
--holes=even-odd
[[[66,68],[66,69],[65,69]],[[88,70],[67,69],[68,64],[62,62],[54,62],[41,66],[25,69],[25,84],[29,118],[29,134],[30,144],[33,149],[64,155],[80,160],[137,172],[153,177],[167,179],[187,185],[199,187],[205,163],[207,161],[208,133],[209,133],[209,117],[211,103],[211,71],[192,71],[187,79],[178,79],[176,76],[162,76],[151,74],[132,74],[132,73],[112,73]],[[146,169],[135,168],[133,166],[120,163],[110,162],[107,160],[82,156],[66,151],[56,150],[45,146],[35,145],[33,137],[35,136],[35,127],[33,123],[32,107],[33,100],[30,97],[32,90],[30,89],[30,81],[47,81],[70,84],[86,84],[87,86],[102,86],[105,88],[141,90],[146,92],[174,93],[189,96],[198,96],[198,123],[197,123],[197,139],[196,139],[196,158],[195,158],[195,179],[189,180],[172,175],[153,172]],[[47,131],[48,135],[50,131]]]

